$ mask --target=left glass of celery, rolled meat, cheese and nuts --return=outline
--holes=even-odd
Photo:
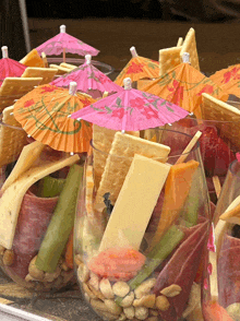
[[[33,292],[58,290],[75,283],[74,204],[84,156],[27,138],[8,108],[0,124],[0,265]]]

